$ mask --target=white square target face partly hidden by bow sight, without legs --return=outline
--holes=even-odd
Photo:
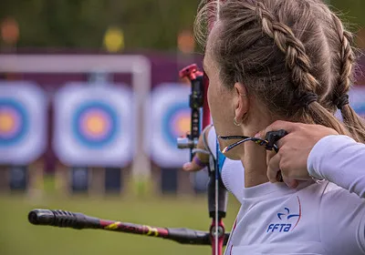
[[[177,138],[190,131],[191,87],[162,84],[151,92],[146,105],[145,148],[151,159],[162,168],[181,168],[189,160],[190,150],[177,148]]]

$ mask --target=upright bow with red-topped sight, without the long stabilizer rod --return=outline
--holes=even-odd
[[[207,3],[209,4],[209,0]],[[220,1],[217,1],[217,5],[214,8],[210,8],[212,12],[208,13],[208,30],[211,30],[214,26],[214,21],[218,19]],[[191,149],[191,160],[193,159],[193,148],[196,147],[198,138],[202,128],[206,128],[210,124],[210,111],[208,102],[206,99],[207,89],[209,86],[209,80],[197,69],[196,65],[191,65],[183,68],[179,73],[180,77],[188,77],[192,84],[192,94],[190,96],[189,106],[192,108],[192,122],[191,133],[185,138],[185,144]],[[204,78],[205,77],[205,78]],[[203,125],[201,124],[200,109],[203,107]],[[202,128],[200,126],[203,126]],[[206,144],[206,142],[204,142]],[[183,148],[179,146],[179,148]],[[224,157],[219,153],[218,143],[216,148],[216,158],[214,159],[212,151],[207,146],[206,149],[210,154],[210,164],[208,166],[209,182],[207,187],[208,192],[208,210],[209,217],[212,218],[210,227],[210,239],[212,242],[212,254],[221,255],[224,246],[224,222],[223,218],[226,213],[227,205],[227,190],[224,188],[224,184],[220,177],[219,170],[220,158]]]

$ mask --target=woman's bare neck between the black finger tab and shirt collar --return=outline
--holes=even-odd
[[[245,188],[268,181],[266,176],[266,148],[260,147],[254,142],[246,142],[245,153],[241,161],[245,168]]]

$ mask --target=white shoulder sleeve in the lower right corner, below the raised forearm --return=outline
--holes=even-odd
[[[328,184],[319,207],[320,241],[328,254],[365,254],[365,203],[355,194]]]

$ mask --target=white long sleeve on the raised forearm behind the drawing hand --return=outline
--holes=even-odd
[[[308,157],[308,173],[365,198],[365,145],[347,136],[321,138]]]

